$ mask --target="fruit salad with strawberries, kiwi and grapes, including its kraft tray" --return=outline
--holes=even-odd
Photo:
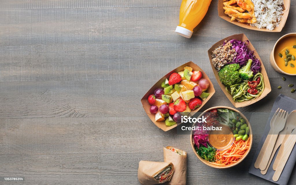
[[[181,116],[199,111],[214,93],[209,77],[190,61],[158,80],[141,103],[151,121],[168,131],[181,122]]]

